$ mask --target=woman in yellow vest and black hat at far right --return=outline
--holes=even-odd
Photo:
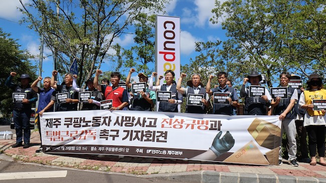
[[[307,109],[304,114],[303,126],[308,133],[308,146],[311,156],[310,165],[316,165],[316,147],[319,155],[319,164],[326,166],[324,161],[325,156],[325,132],[326,120],[325,110],[314,110],[312,100],[325,100],[326,90],[322,89],[322,81],[318,74],[311,74],[307,81],[308,90],[305,90],[300,95],[299,106]]]

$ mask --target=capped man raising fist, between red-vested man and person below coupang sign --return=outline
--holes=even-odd
[[[130,77],[136,70],[131,68],[126,79],[126,85],[131,88]],[[138,74],[139,82],[146,82],[146,92],[140,91],[139,93],[133,93],[132,104],[130,110],[136,111],[152,111],[156,101],[156,94],[148,89],[147,81],[148,77],[144,73]]]

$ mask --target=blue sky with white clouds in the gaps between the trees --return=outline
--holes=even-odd
[[[29,3],[30,0],[23,0]],[[40,39],[38,33],[27,28],[26,24],[18,24],[23,17],[17,7],[21,7],[19,0],[0,0],[0,27],[4,32],[10,33],[11,38],[17,39],[22,50],[28,50],[36,57],[40,54]],[[216,41],[225,40],[225,31],[221,25],[213,25],[209,19],[213,16],[211,10],[215,7],[214,0],[173,0],[167,5],[168,16],[180,17],[181,21],[181,65],[189,63],[190,58],[195,58],[196,41]],[[133,43],[133,35],[123,35],[114,40],[122,47],[129,47]],[[52,52],[44,48],[43,73],[42,76],[51,76],[53,70]],[[31,59],[33,64],[38,64],[39,60]],[[109,63],[102,64],[101,69],[110,68]]]

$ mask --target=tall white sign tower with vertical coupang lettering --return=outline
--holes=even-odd
[[[180,18],[156,16],[155,68],[157,75],[172,70],[180,76]],[[165,83],[166,81],[164,81]]]

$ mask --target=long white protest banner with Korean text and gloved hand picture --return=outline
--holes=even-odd
[[[46,112],[40,120],[46,153],[268,165],[277,164],[281,142],[278,116],[91,110]]]

